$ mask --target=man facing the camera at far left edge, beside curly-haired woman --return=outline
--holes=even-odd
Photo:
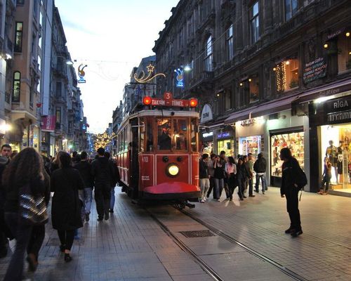
[[[4,218],[4,203],[5,195],[4,190],[1,184],[2,174],[6,168],[6,165],[10,162],[11,155],[11,146],[3,145],[1,147],[1,156],[0,156],[0,258],[4,258],[7,254],[7,237],[9,236],[9,229],[6,226]],[[11,235],[12,236],[12,235]]]

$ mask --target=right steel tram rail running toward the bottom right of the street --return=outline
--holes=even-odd
[[[174,207],[174,208],[176,208],[176,207]],[[176,209],[178,209],[178,208],[176,208]],[[245,251],[249,252],[253,256],[256,256],[258,259],[261,259],[261,260],[263,260],[263,261],[265,261],[267,263],[270,263],[272,266],[274,266],[274,268],[279,269],[280,271],[282,271],[282,273],[288,275],[289,277],[293,278],[294,280],[297,280],[297,281],[308,281],[305,277],[302,277],[302,276],[298,275],[298,273],[295,273],[295,272],[289,270],[288,268],[286,268],[285,266],[282,266],[281,264],[277,263],[276,261],[268,258],[267,256],[265,256],[263,254],[260,254],[258,251],[255,251],[254,249],[251,249],[250,247],[248,247],[245,244],[239,242],[238,240],[234,239],[233,237],[230,237],[229,235],[223,233],[222,230],[218,230],[217,228],[214,228],[213,226],[209,225],[208,223],[205,223],[200,218],[197,218],[196,216],[194,216],[194,215],[190,214],[189,212],[185,211],[183,208],[182,209],[178,209],[178,211],[180,211],[183,214],[185,214],[185,216],[189,216],[194,221],[197,221],[197,223],[200,223],[201,226],[204,226],[204,227],[208,228],[213,233],[216,233],[216,235],[218,235],[220,237],[223,237],[228,242],[231,242],[232,244],[237,244],[237,246],[241,247],[242,249],[244,249]]]

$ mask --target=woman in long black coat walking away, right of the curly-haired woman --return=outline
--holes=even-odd
[[[51,174],[51,191],[53,205],[51,219],[53,228],[58,230],[60,250],[65,252],[65,261],[72,261],[69,255],[73,240],[74,230],[81,228],[81,201],[78,190],[84,189],[84,183],[79,171],[71,166],[71,156],[68,153],[60,155],[60,169]]]

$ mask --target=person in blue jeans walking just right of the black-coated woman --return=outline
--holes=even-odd
[[[81,161],[74,166],[74,169],[79,171],[81,179],[84,183],[84,190],[79,190],[81,193],[81,200],[84,202],[83,215],[85,221],[90,220],[91,214],[91,203],[93,202],[93,173],[91,171],[91,164],[88,162],[88,153],[86,151],[81,152]]]

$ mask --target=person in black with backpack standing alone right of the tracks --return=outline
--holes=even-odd
[[[290,227],[285,230],[285,233],[297,237],[303,234],[300,211],[298,210],[298,192],[307,184],[307,178],[300,168],[298,160],[291,155],[289,148],[280,150],[280,159],[284,162],[280,194],[281,197],[286,197],[286,210],[290,217]]]

